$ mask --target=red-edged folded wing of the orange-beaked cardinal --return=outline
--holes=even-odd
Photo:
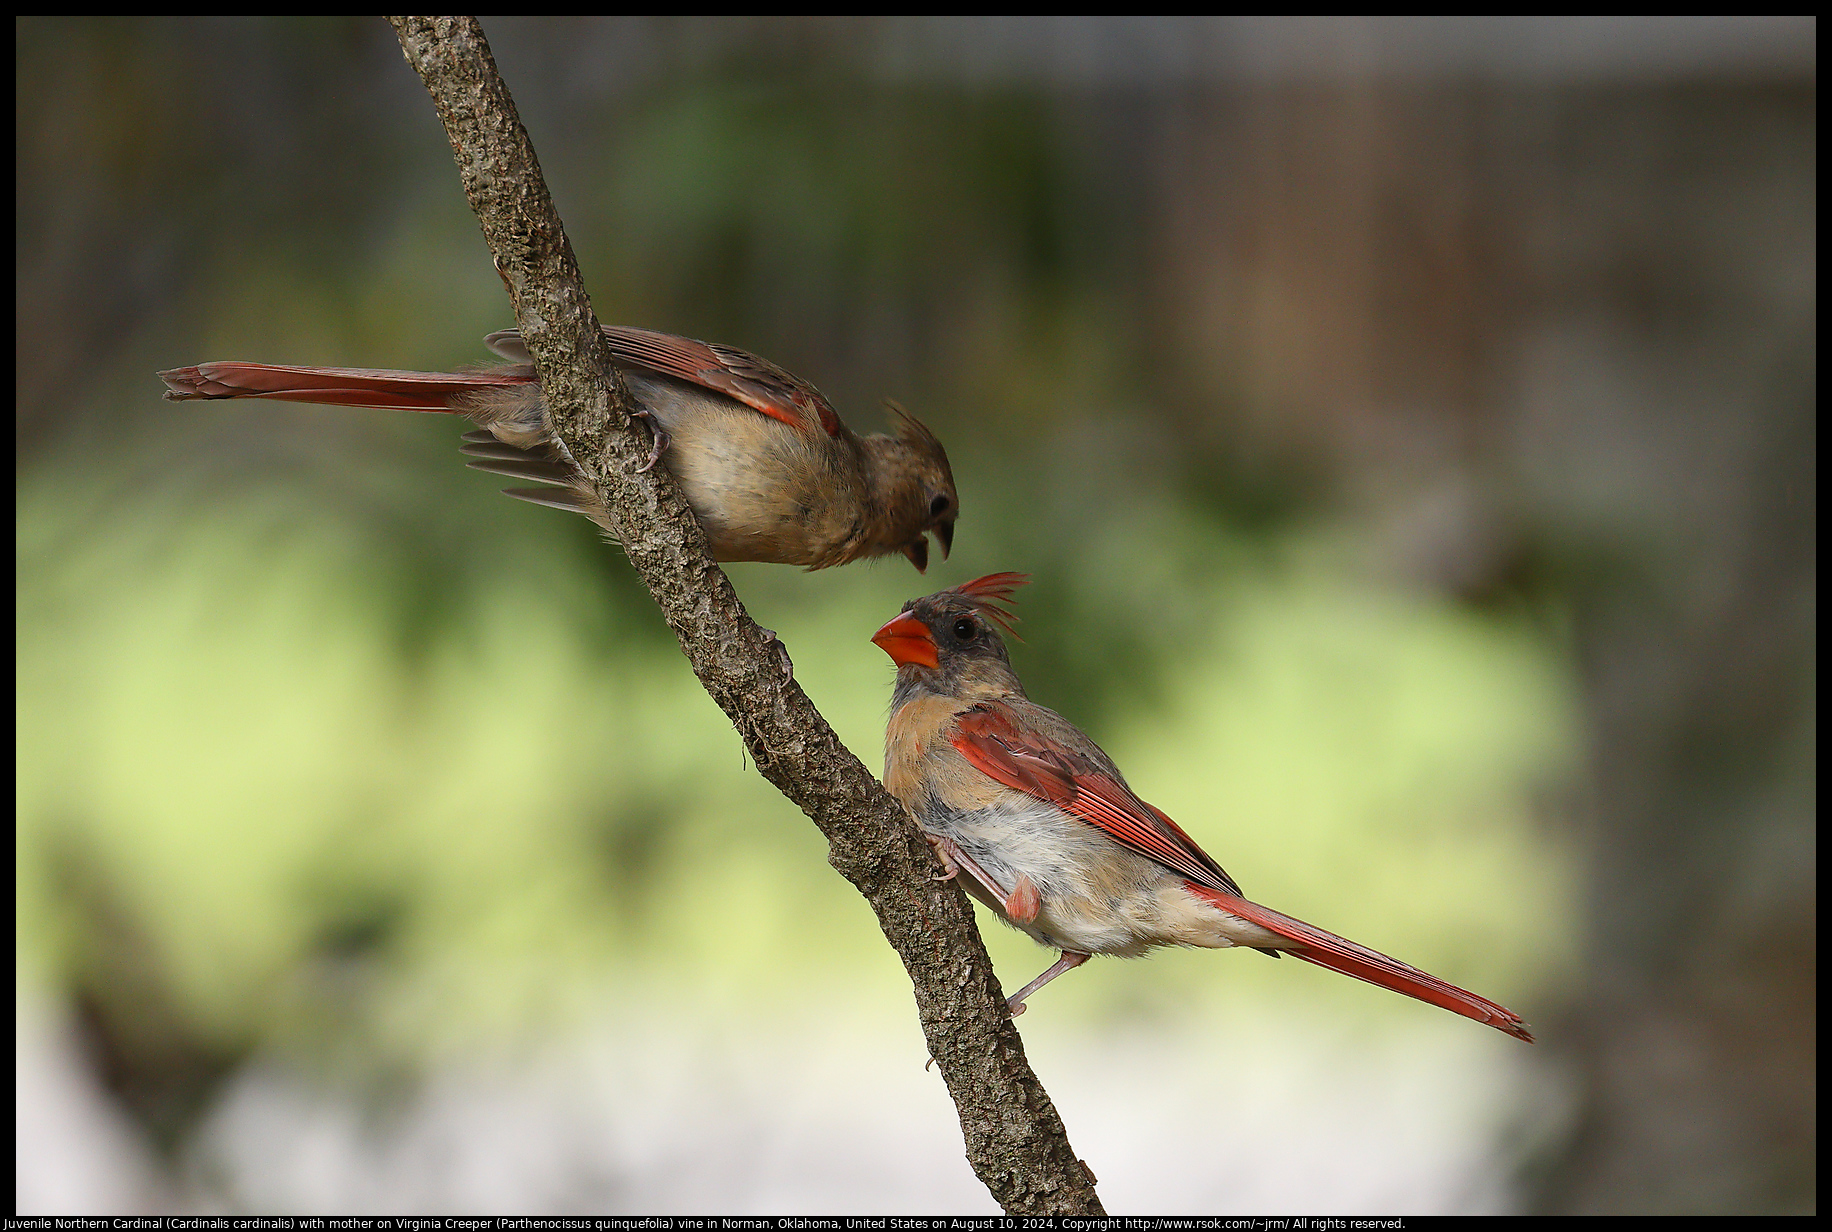
[[[954,732],[954,748],[987,777],[1037,799],[1048,799],[1114,842],[1198,886],[1240,895],[1235,880],[1196,845],[1196,840],[1134,796],[1092,757],[1020,730],[1002,708],[995,706],[975,706],[960,717]]]

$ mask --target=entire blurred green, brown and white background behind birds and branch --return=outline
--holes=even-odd
[[[1253,898],[1539,1032],[1092,962],[1022,1034],[1108,1210],[1816,1208],[1812,18],[485,29],[601,319],[947,442],[927,578],[729,566],[867,764],[870,632],[1028,570]],[[511,324],[390,29],[15,33],[16,1210],[993,1212],[614,546],[445,416],[159,400]]]

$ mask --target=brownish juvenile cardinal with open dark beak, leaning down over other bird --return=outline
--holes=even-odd
[[[947,557],[960,500],[947,453],[914,416],[890,405],[894,436],[856,436],[826,398],[768,359],[691,337],[605,326],[610,354],[656,431],[658,458],[674,471],[705,528],[713,559],[826,568],[901,552],[929,566],[934,532]],[[341,407],[449,411],[476,469],[548,488],[506,495],[584,513],[614,534],[592,486],[553,442],[522,336],[484,339],[504,359],[478,372],[300,368],[200,363],[159,372],[167,398],[275,398]]]

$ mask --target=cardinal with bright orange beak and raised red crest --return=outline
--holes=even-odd
[[[1240,896],[1176,821],[1132,794],[1101,748],[1024,697],[1000,603],[1024,574],[989,574],[912,600],[876,642],[898,664],[885,786],[934,843],[947,876],[1013,928],[1063,952],[1024,997],[1094,953],[1249,946],[1429,1001],[1517,1040],[1517,1014],[1436,975]]]

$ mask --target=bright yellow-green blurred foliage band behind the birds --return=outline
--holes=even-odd
[[[60,490],[24,488],[27,966],[90,961],[93,902],[73,889],[90,884],[134,920],[194,1030],[306,1056],[359,1043],[405,1062],[548,1028],[619,981],[768,1003],[859,996],[870,972],[898,996],[817,832],[747,772],[643,616],[597,603],[570,550],[515,554],[436,627],[410,623],[409,651],[390,592],[418,574],[310,519],[245,495],[84,541]],[[1341,550],[1293,535],[1229,552],[1167,504],[1039,579],[1020,631],[1055,651],[1026,642],[1017,664],[1249,893],[1517,999],[1572,940],[1546,933],[1570,871],[1533,810],[1570,757],[1566,684],[1532,625],[1358,585]],[[929,583],[738,572],[876,764],[892,669],[867,638]],[[1108,708],[1075,671],[1103,644],[1134,644],[1140,673]],[[1008,981],[1042,961],[995,940]],[[1059,1005],[1172,1014],[1194,977],[1273,974],[1244,957],[1200,975],[1114,968]]]

